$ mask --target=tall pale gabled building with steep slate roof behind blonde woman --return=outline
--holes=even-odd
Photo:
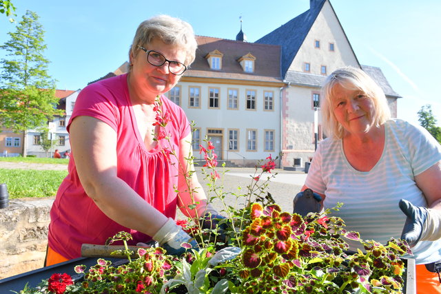
[[[396,117],[397,99],[380,68],[360,65],[329,0],[310,0],[310,8],[256,43],[280,45],[283,82],[283,166],[311,160],[322,133],[320,86],[338,67],[365,70],[384,90]],[[317,138],[317,140],[316,140]]]

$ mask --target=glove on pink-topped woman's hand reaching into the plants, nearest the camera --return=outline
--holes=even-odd
[[[159,246],[170,255],[180,256],[188,249],[199,250],[196,240],[185,233],[182,227],[178,226],[172,218],[169,218],[163,227],[154,234],[153,240],[157,241]],[[181,246],[183,243],[189,243],[191,247],[187,249]]]

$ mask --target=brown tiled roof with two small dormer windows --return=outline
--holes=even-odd
[[[209,36],[196,36],[196,41],[198,42],[196,58],[184,76],[282,82],[278,45],[247,43]],[[212,70],[205,59],[205,56],[214,50],[223,54],[220,70]],[[256,57],[254,72],[244,72],[238,62],[240,57],[248,53]]]

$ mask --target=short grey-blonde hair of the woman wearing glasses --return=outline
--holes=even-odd
[[[148,47],[155,38],[168,45],[176,45],[178,48],[185,50],[185,65],[189,66],[194,61],[198,44],[192,25],[165,14],[140,23],[130,46],[129,57],[130,54],[136,56],[135,52],[139,50],[139,46]]]

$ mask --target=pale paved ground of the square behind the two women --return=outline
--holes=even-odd
[[[2,162],[0,161],[0,168],[3,169],[53,169],[53,170],[67,170],[67,165],[52,165],[52,164],[37,164],[28,162]],[[221,169],[218,169],[220,172]],[[255,169],[252,168],[228,168],[228,171],[224,175],[220,176],[218,180],[218,186],[223,187],[223,191],[227,193],[225,197],[225,202],[228,205],[235,206],[236,196],[232,193],[245,193],[247,191],[247,186],[251,185],[254,180],[252,180],[252,175],[254,175]],[[207,186],[207,181],[205,180],[205,175],[202,174],[201,168],[196,167],[196,174],[198,175],[199,181],[205,190],[207,195],[212,196],[212,192],[209,192],[209,187]],[[268,182],[266,191],[271,193],[271,196],[276,200],[276,203],[280,205],[283,211],[292,211],[292,199],[300,191],[300,188],[305,182],[306,174],[301,171],[284,171],[283,169],[275,169],[272,174],[264,174],[262,176],[263,180],[266,180],[268,176],[276,174],[274,178],[271,178]],[[262,182],[260,180],[259,182]],[[240,190],[238,190],[240,187]],[[243,204],[243,198],[239,199],[239,203]],[[214,207],[218,210],[222,210],[223,205],[220,201],[214,201]],[[178,213],[178,217],[180,213]]]

